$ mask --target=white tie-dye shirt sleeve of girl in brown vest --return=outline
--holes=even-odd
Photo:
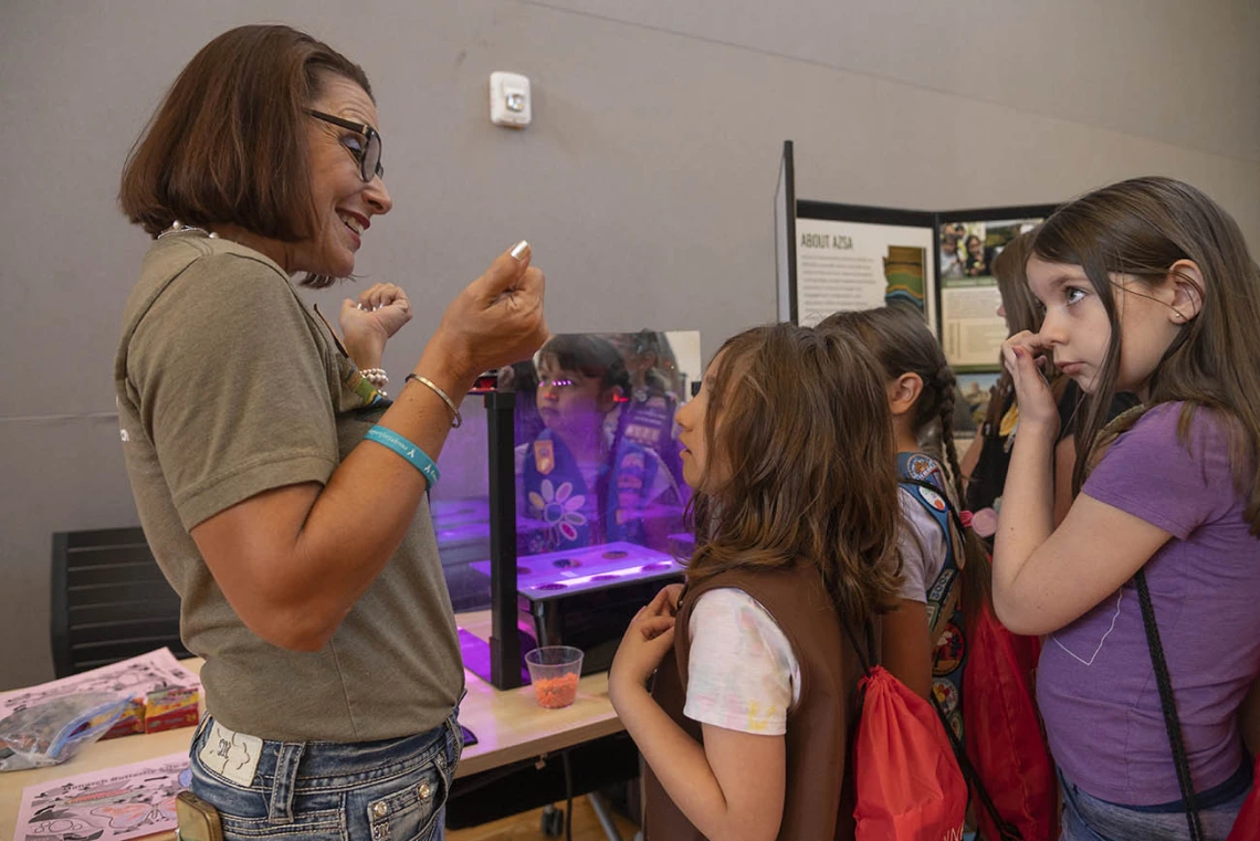
[[[774,617],[741,589],[708,590],[687,628],[683,715],[738,733],[782,735],[800,700],[800,663]]]

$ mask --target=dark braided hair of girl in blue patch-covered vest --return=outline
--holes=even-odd
[[[887,383],[902,374],[916,374],[922,380],[922,390],[915,402],[911,427],[916,436],[922,434],[934,423],[940,424],[941,444],[954,490],[955,507],[963,504],[963,471],[958,466],[958,447],[954,443],[954,402],[958,393],[958,379],[954,369],[945,361],[945,353],[936,336],[927,329],[922,315],[912,307],[892,305],[861,310],[857,312],[835,312],[822,321],[818,329],[838,332],[857,339],[869,347],[881,366],[881,380]],[[887,402],[887,393],[883,395]],[[890,429],[892,419],[888,419]],[[964,599],[968,614],[980,604],[989,602],[992,573],[989,559],[975,533],[963,529],[964,558],[958,559],[961,568]]]

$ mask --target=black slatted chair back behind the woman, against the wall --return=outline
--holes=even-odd
[[[52,638],[58,677],[107,666],[179,638],[179,597],[141,529],[53,533]]]

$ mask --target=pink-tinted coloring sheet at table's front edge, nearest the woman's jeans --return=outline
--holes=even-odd
[[[175,796],[188,788],[188,754],[50,779],[21,793],[14,841],[127,841],[175,828]]]

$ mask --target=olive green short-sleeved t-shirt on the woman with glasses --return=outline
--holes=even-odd
[[[387,405],[284,271],[197,233],[155,242],[127,300],[115,387],[140,521],[180,595],[184,643],[205,658],[209,713],[287,742],[368,742],[441,724],[464,671],[427,504],[312,653],[255,636],[189,536],[268,488],[325,483]]]

